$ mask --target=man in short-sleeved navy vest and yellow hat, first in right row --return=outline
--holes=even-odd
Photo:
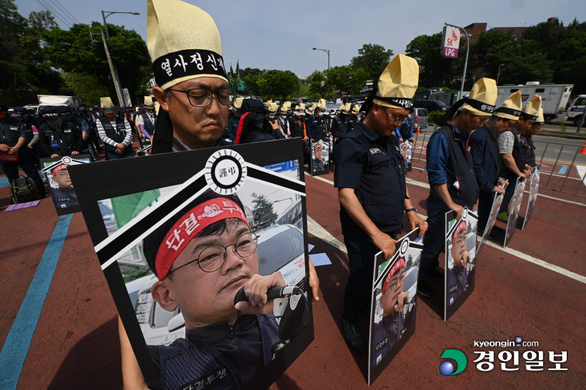
[[[374,255],[380,250],[386,260],[393,255],[403,212],[412,229],[419,227],[423,234],[427,228],[409,199],[403,156],[393,135],[412,110],[418,79],[417,61],[395,56],[367,98],[366,118],[334,147],[334,187],[350,267],[342,327],[347,343],[358,351],[367,347],[357,323],[359,312],[369,311]]]

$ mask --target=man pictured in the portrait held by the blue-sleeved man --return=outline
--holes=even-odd
[[[448,260],[447,270],[447,304],[451,305],[455,299],[465,292],[468,280],[467,265],[470,260],[470,252],[466,250],[468,230],[466,221],[458,223],[452,234],[452,247]],[[450,267],[450,263],[452,267]]]

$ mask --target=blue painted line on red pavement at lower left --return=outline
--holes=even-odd
[[[0,351],[0,389],[16,389],[73,214],[62,215]]]

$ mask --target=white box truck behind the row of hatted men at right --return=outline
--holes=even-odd
[[[567,100],[574,84],[552,84],[529,81],[525,85],[505,84],[498,87],[497,107],[513,93],[520,91],[523,103],[531,100],[534,95],[541,96],[543,116],[545,120],[553,119],[565,111]]]

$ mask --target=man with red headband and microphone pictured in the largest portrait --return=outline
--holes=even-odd
[[[273,314],[283,299],[267,297],[287,283],[280,272],[259,275],[257,236],[236,195],[208,190],[146,237],[144,255],[159,279],[153,298],[169,312],[179,308],[187,328],[185,338],[149,347],[166,389],[217,373],[221,388],[238,388],[287,344]],[[234,305],[243,287],[249,302]]]

